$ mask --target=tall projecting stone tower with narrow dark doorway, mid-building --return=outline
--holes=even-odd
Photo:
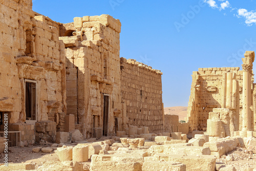
[[[93,127],[103,129],[103,98],[109,95],[107,132],[114,134],[114,117],[121,113],[121,24],[109,15],[101,15],[75,17],[74,23],[63,27],[66,33],[62,28],[61,35],[72,34],[60,37],[67,57],[67,113],[75,115],[75,122],[83,124],[83,135],[91,137]]]

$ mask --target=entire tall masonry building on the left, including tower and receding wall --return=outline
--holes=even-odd
[[[120,60],[118,19],[61,24],[32,11],[32,0],[1,1],[0,9],[0,132],[8,114],[15,145],[54,142],[71,122],[87,138],[130,125],[161,132],[162,73]]]

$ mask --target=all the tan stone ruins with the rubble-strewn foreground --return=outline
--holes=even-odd
[[[180,123],[164,115],[161,71],[119,56],[118,19],[0,9],[0,170],[247,169],[230,162],[256,154],[253,51],[241,71],[193,72]]]

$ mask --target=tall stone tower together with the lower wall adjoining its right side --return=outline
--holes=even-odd
[[[120,60],[119,20],[109,15],[75,17],[63,27],[67,113],[82,125],[83,134],[106,136],[130,125],[160,132],[162,73],[136,60]]]

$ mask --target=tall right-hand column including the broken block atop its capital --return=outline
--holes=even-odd
[[[251,74],[254,52],[246,51],[243,60],[243,120],[242,131],[251,131]]]

